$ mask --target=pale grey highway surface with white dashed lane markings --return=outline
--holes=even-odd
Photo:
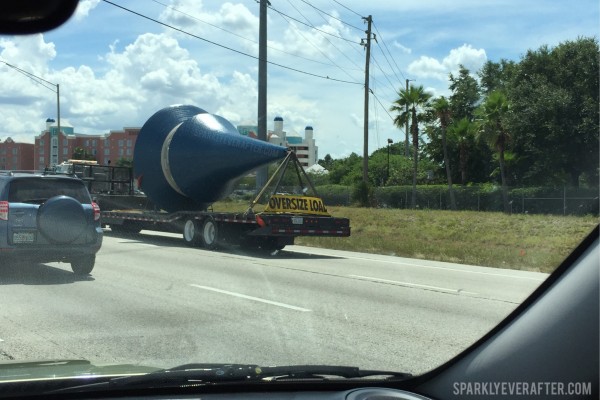
[[[108,231],[89,277],[0,266],[0,360],[335,364],[425,372],[546,274],[288,246],[276,255]]]

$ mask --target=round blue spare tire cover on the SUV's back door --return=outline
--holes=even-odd
[[[85,232],[87,218],[79,201],[55,196],[38,209],[38,229],[52,243],[71,243]]]

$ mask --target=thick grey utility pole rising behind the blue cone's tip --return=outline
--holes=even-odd
[[[267,6],[268,0],[260,0],[258,27],[258,140],[267,141]],[[267,167],[256,171],[256,189],[267,182]]]

